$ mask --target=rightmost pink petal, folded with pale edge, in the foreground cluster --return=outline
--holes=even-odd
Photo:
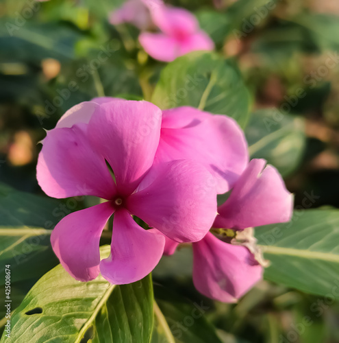
[[[290,220],[293,196],[277,169],[265,164],[262,159],[249,163],[231,196],[218,207],[214,227],[243,229]]]

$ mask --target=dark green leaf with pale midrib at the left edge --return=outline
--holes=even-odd
[[[10,265],[12,282],[40,278],[58,264],[51,228],[71,212],[66,204],[0,185],[0,273]],[[65,211],[62,211],[65,209]],[[0,280],[3,285],[5,279]]]

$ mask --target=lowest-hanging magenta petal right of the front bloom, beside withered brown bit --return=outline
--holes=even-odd
[[[193,246],[193,283],[209,298],[235,303],[262,279],[262,266],[244,246],[233,246],[208,233]]]

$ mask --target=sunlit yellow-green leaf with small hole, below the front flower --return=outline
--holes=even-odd
[[[101,248],[103,256],[108,252],[108,246]],[[111,285],[102,276],[83,283],[57,265],[34,285],[11,324],[12,342],[149,342],[151,276],[129,285]]]

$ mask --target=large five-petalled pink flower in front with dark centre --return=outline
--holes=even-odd
[[[179,242],[202,239],[216,215],[216,192],[208,185],[210,172],[197,162],[153,165],[162,118],[157,106],[105,100],[74,106],[47,132],[37,178],[54,198],[108,200],[66,215],[55,226],[51,243],[75,279],[88,281],[101,272],[111,283],[123,284],[153,270],[164,250],[164,235]],[[100,261],[99,239],[113,213],[111,254]],[[152,228],[144,230],[131,214]]]

